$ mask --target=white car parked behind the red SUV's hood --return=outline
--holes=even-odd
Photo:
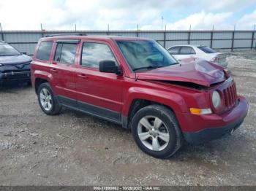
[[[227,68],[227,55],[210,47],[202,45],[176,45],[167,49],[176,60],[181,61],[185,58],[203,58],[206,61],[216,63],[219,66]]]

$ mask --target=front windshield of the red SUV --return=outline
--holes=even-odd
[[[156,69],[177,61],[160,44],[148,40],[117,40],[118,47],[133,71]]]

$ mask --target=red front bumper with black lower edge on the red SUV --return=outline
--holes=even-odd
[[[202,116],[200,121],[192,124],[203,124],[201,128],[195,132],[183,132],[184,139],[190,144],[200,144],[206,141],[222,138],[236,130],[244,121],[248,111],[248,103],[245,98],[240,97],[239,103],[228,114],[222,116],[214,116],[213,114]],[[200,116],[198,116],[200,117]],[[218,125],[213,125],[218,124]]]

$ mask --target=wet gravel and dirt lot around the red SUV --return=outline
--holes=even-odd
[[[256,52],[228,56],[249,114],[233,136],[185,146],[168,160],[129,130],[64,109],[43,114],[27,86],[0,90],[0,185],[256,185]]]

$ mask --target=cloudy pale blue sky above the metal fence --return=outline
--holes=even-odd
[[[0,0],[0,23],[3,30],[253,29],[256,0]]]

